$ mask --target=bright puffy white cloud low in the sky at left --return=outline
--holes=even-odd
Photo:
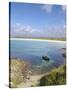
[[[11,28],[11,36],[31,36],[35,34],[41,33],[39,29],[32,28],[30,25],[22,25],[22,24],[15,24]]]

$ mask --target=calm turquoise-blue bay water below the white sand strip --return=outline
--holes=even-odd
[[[50,62],[43,65],[61,65],[64,64],[64,58],[60,52],[65,48],[65,43],[31,41],[31,40],[11,40],[10,41],[10,58],[19,58],[31,62],[33,65],[42,63],[42,56],[48,56]]]

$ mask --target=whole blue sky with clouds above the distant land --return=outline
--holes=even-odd
[[[10,3],[11,37],[65,37],[66,6]]]

